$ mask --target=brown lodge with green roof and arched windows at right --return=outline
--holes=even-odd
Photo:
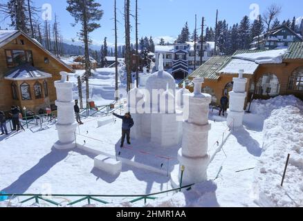
[[[295,95],[303,99],[303,42],[293,42],[286,49],[237,50],[232,56],[214,56],[185,78],[185,86],[193,91],[192,79],[203,77],[203,92],[219,104],[232,90],[232,78],[244,70],[248,78],[246,102],[277,95]],[[183,82],[179,84],[183,86]]]

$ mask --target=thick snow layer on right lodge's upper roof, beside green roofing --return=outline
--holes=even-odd
[[[244,53],[232,58],[255,61],[256,64],[282,64],[287,49],[266,50],[264,52]]]

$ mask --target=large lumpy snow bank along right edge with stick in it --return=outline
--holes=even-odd
[[[283,107],[287,99],[290,99],[289,103],[297,103]],[[303,102],[291,96],[279,97],[275,102],[268,102],[267,110],[273,105],[281,107],[273,111],[264,123],[264,153],[255,169],[259,204],[303,206]],[[282,187],[280,184],[288,153],[291,158]]]

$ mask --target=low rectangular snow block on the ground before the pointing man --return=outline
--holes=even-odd
[[[95,157],[94,166],[96,169],[100,169],[111,175],[117,175],[122,171],[122,162],[113,160],[113,158],[104,155]]]

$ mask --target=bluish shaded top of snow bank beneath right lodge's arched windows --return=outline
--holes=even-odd
[[[303,109],[300,99],[293,95],[288,95],[278,96],[268,100],[255,99],[250,106],[250,111],[256,115],[267,118],[271,115],[273,110],[284,108],[286,106],[294,106]]]

